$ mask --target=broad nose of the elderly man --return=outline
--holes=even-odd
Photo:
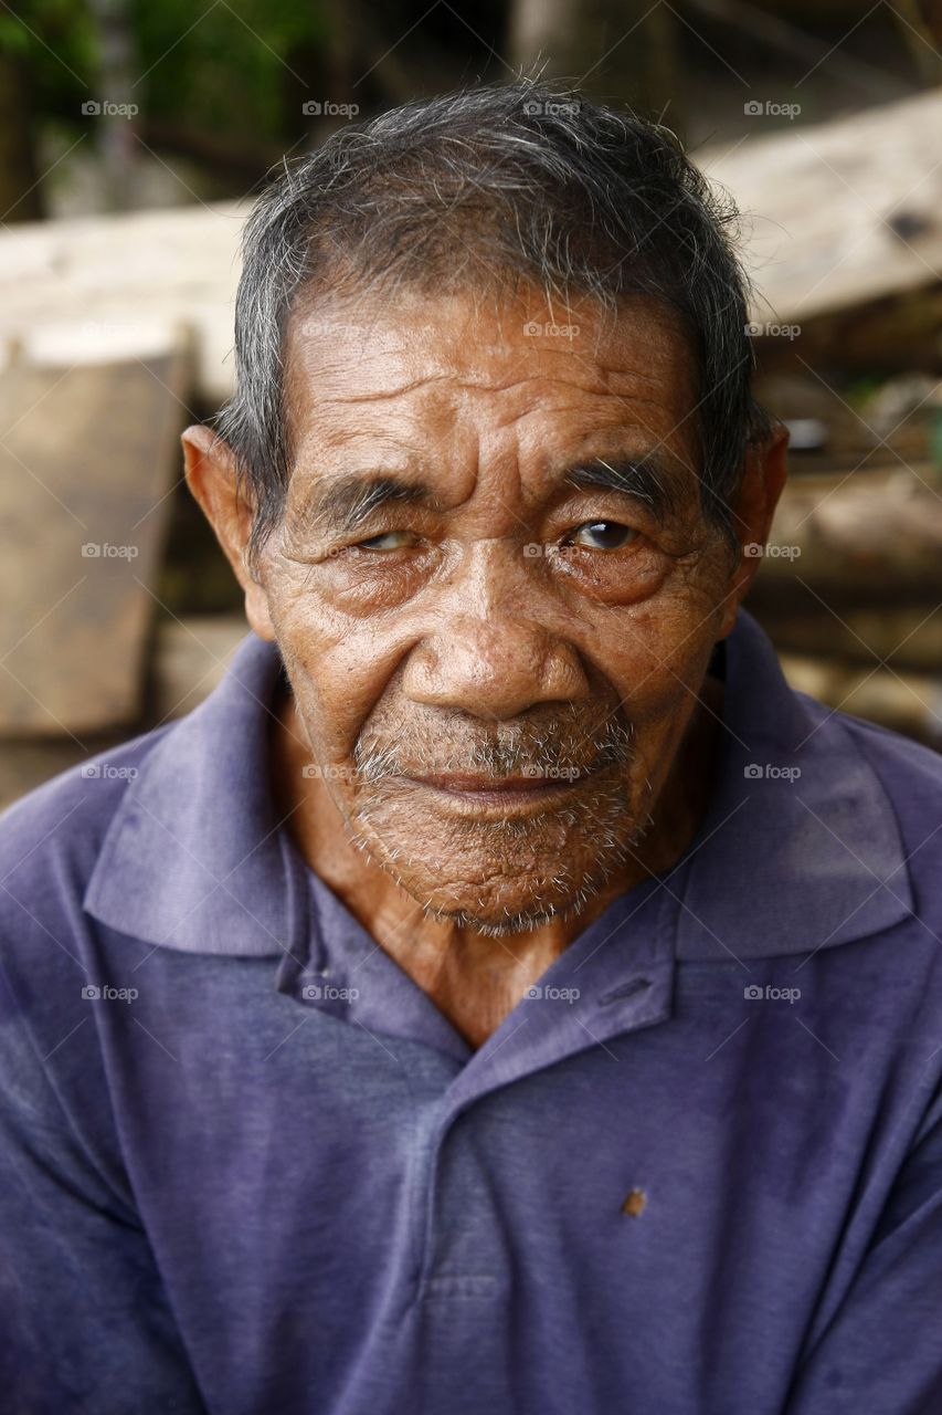
[[[463,583],[450,586],[437,606],[434,634],[416,644],[405,666],[406,696],[496,722],[537,703],[590,696],[574,645],[540,623],[539,590],[509,587],[505,576],[489,574],[492,569],[478,559]],[[515,573],[522,573],[519,566]]]

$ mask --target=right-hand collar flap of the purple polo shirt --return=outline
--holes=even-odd
[[[714,792],[675,866],[678,958],[810,954],[900,923],[902,838],[850,719],[788,686],[745,611],[726,662]]]

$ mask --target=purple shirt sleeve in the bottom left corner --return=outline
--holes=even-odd
[[[71,1122],[1,968],[0,1077],[3,1409],[205,1415],[147,1235]]]

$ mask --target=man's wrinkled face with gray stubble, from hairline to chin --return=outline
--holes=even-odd
[[[262,631],[314,773],[427,908],[577,910],[656,815],[733,623],[683,338],[641,301],[612,325],[400,293],[301,307],[286,352]]]

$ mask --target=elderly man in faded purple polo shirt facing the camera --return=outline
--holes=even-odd
[[[741,610],[727,216],[529,82],[263,192],[253,633],[1,832],[7,1409],[942,1411],[942,770]]]

